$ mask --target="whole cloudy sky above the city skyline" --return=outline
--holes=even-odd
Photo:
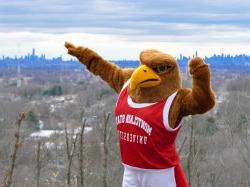
[[[64,41],[107,59],[156,48],[178,56],[250,54],[248,0],[0,0],[0,55],[35,47],[67,57]]]

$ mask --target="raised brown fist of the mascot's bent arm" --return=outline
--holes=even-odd
[[[188,62],[188,68],[189,73],[191,75],[195,75],[198,72],[202,71],[204,68],[208,69],[208,65],[200,57],[195,57]]]

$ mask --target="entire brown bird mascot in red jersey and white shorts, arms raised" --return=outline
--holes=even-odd
[[[202,114],[215,104],[208,65],[189,61],[192,88],[182,88],[178,64],[171,55],[145,50],[140,66],[122,69],[93,50],[65,43],[94,75],[119,93],[115,117],[124,165],[123,187],[187,187],[175,139],[188,115]]]

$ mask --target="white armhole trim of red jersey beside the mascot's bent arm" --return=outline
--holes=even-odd
[[[172,103],[173,103],[176,95],[177,95],[177,92],[174,92],[172,95],[170,95],[167,98],[167,101],[166,101],[165,106],[163,108],[163,124],[164,124],[164,127],[166,128],[166,130],[170,131],[170,132],[174,132],[174,131],[178,130],[182,125],[182,118],[177,120],[177,123],[175,124],[174,128],[171,128],[169,125],[169,120],[168,120],[169,112],[170,112],[170,108],[172,106]]]

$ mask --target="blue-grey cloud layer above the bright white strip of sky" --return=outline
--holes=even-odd
[[[0,0],[0,30],[206,36],[250,28],[247,0]]]

